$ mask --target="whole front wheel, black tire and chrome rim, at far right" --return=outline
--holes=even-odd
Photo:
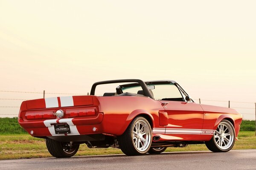
[[[236,138],[232,123],[228,120],[222,120],[216,131],[213,133],[212,139],[205,142],[207,148],[212,152],[227,152],[231,150]]]

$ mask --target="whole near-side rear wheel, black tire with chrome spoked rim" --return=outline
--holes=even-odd
[[[118,142],[120,149],[127,156],[146,154],[152,142],[152,130],[148,120],[144,117],[135,118],[118,137]]]

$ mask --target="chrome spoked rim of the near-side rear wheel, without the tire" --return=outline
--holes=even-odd
[[[148,150],[151,144],[151,129],[145,120],[138,120],[133,127],[133,144],[140,152]]]

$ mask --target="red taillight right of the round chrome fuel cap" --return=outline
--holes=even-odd
[[[95,109],[70,109],[66,111],[67,117],[96,116]]]

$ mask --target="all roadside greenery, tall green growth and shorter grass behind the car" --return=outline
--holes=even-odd
[[[251,130],[251,131],[246,131]],[[255,121],[243,120],[233,149],[256,149]],[[166,152],[208,150],[204,144],[191,144],[187,147],[168,147]],[[121,154],[116,148],[90,149],[81,144],[76,156]],[[0,118],[0,160],[51,157],[44,139],[30,136],[16,118]]]

